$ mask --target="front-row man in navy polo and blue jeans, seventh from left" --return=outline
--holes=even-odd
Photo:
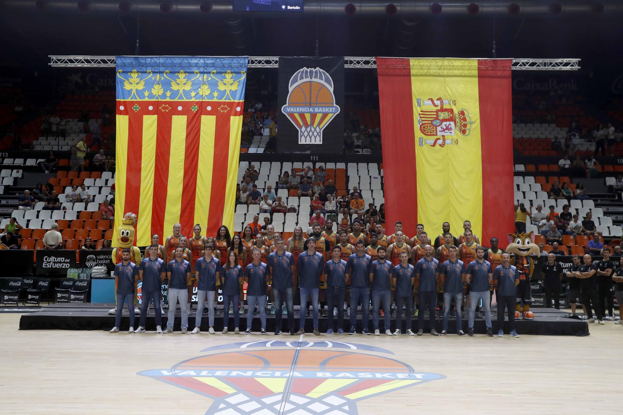
[[[272,276],[272,292],[277,310],[282,309],[283,302],[288,313],[288,330],[290,335],[297,334],[294,329],[293,287],[297,285],[297,274],[294,270],[294,256],[284,248],[283,239],[277,239],[277,250],[269,254],[266,265]],[[255,247],[253,248],[255,249]],[[275,313],[275,335],[281,334],[282,313]]]

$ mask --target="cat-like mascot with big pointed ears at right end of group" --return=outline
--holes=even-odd
[[[515,265],[519,272],[515,318],[519,318],[521,312],[521,318],[524,320],[534,320],[535,315],[530,311],[532,304],[530,279],[535,270],[535,261],[529,255],[540,255],[539,247],[535,244],[535,232],[508,234],[508,242],[506,252],[513,254],[510,263]]]

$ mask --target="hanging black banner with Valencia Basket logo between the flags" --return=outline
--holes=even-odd
[[[278,153],[342,153],[344,57],[279,57]]]

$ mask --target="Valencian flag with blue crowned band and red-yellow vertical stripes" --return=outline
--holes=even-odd
[[[233,225],[247,62],[117,57],[115,224],[137,214],[137,246]]]

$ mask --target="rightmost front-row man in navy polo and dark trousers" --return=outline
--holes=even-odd
[[[493,284],[495,295],[498,299],[498,337],[503,337],[504,308],[508,310],[508,328],[510,335],[519,337],[515,331],[515,297],[519,285],[519,272],[515,265],[510,264],[510,254],[502,254],[502,265],[495,267],[493,271]]]

